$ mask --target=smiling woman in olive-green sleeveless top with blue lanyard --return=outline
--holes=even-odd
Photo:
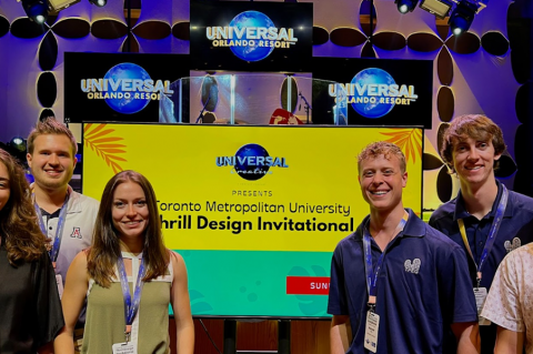
[[[177,325],[173,352],[192,354],[185,264],[164,247],[155,194],[140,173],[120,172],[105,185],[93,245],[67,273],[58,354],[74,351],[72,332],[86,294],[82,353],[170,353],[170,303]]]

